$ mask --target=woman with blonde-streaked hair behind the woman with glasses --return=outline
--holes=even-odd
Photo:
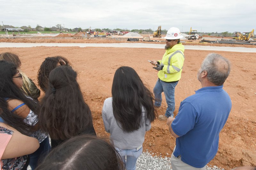
[[[21,90],[27,95],[37,100],[40,96],[40,90],[36,87],[35,83],[28,78],[28,76],[20,70],[21,61],[18,55],[12,53],[2,53],[0,54],[0,60],[5,60],[7,62],[14,63],[17,66],[17,69],[22,75],[23,85]]]

